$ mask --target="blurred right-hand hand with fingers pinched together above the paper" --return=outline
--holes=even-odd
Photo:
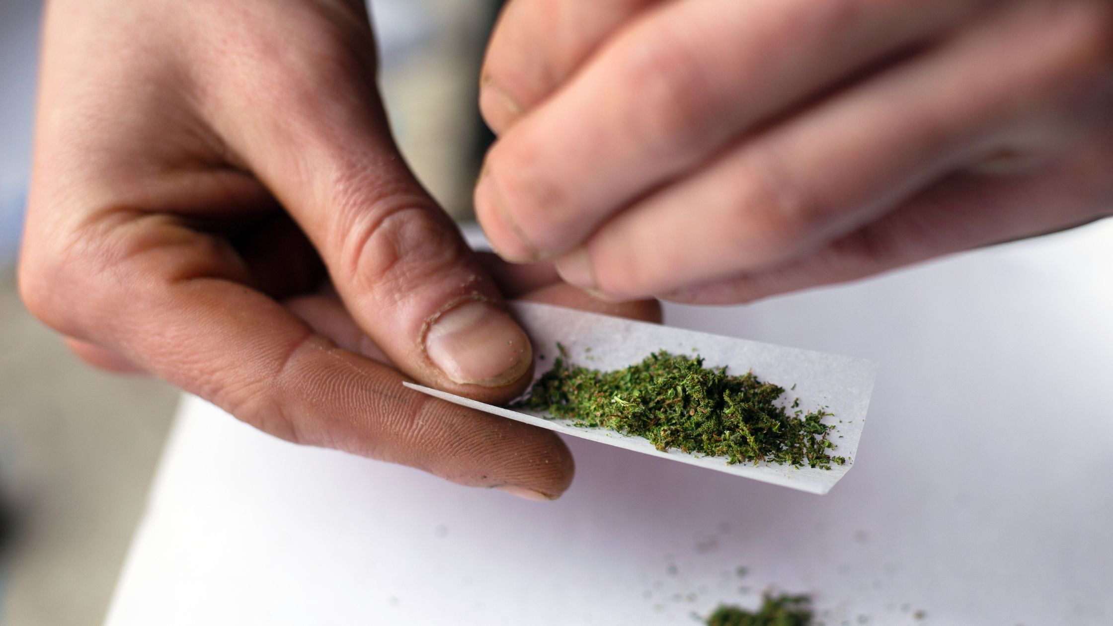
[[[743,302],[1113,214],[1107,0],[513,0],[476,212],[615,299]]]

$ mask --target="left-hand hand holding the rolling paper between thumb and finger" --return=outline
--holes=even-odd
[[[88,360],[275,436],[556,497],[556,437],[402,387],[508,400],[532,356],[374,80],[358,0],[50,2],[23,297]],[[495,270],[568,301],[551,270]],[[326,274],[336,295],[305,295]]]

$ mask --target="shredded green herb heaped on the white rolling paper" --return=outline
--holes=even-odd
[[[700,356],[666,351],[641,363],[601,372],[561,355],[516,407],[548,412],[573,424],[605,428],[643,437],[658,450],[726,457],[728,463],[768,461],[830,469],[846,459],[833,457],[830,413],[805,413],[799,401],[779,402],[785,389],[752,372],[729,375],[726,368],[705,368]],[[794,410],[789,414],[789,410]]]

